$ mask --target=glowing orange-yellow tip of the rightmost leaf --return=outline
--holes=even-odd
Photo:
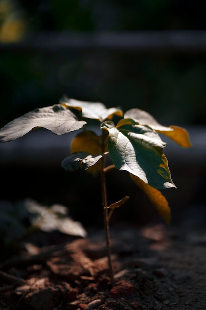
[[[157,130],[158,132],[168,136],[170,139],[174,140],[183,148],[190,148],[192,144],[189,139],[189,134],[186,129],[178,126],[171,125],[172,131],[165,131],[165,130]]]

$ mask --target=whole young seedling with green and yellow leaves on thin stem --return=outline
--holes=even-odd
[[[112,121],[115,116],[117,124]],[[91,120],[98,122],[100,135],[90,130]],[[102,103],[63,97],[59,104],[35,109],[9,122],[0,130],[0,142],[15,140],[39,128],[46,128],[57,135],[81,129],[74,137],[71,153],[62,161],[62,167],[66,171],[81,169],[94,176],[100,173],[108,267],[113,285],[109,221],[115,208],[122,206],[129,196],[108,205],[106,172],[113,168],[126,170],[168,224],[170,208],[158,189],[176,186],[163,153],[166,143],[159,133],[185,148],[191,147],[189,135],[184,128],[160,125],[149,113],[137,108],[123,114],[120,108],[106,108]],[[108,155],[113,164],[106,166]]]

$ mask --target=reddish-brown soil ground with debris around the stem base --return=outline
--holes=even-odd
[[[112,227],[113,287],[104,231],[51,236],[1,262],[0,310],[206,310],[204,230]]]

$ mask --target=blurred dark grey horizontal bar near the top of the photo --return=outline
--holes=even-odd
[[[70,49],[206,52],[206,31],[41,32],[22,42],[0,44],[0,51],[18,49],[58,52]]]

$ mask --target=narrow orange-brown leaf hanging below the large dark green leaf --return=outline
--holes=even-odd
[[[139,186],[140,189],[148,196],[150,201],[156,207],[160,216],[165,220],[167,224],[169,224],[170,223],[170,207],[168,205],[168,202],[165,196],[163,196],[159,190],[155,189],[149,184],[146,184],[137,176],[130,174],[130,177],[135,182],[135,184]]]

